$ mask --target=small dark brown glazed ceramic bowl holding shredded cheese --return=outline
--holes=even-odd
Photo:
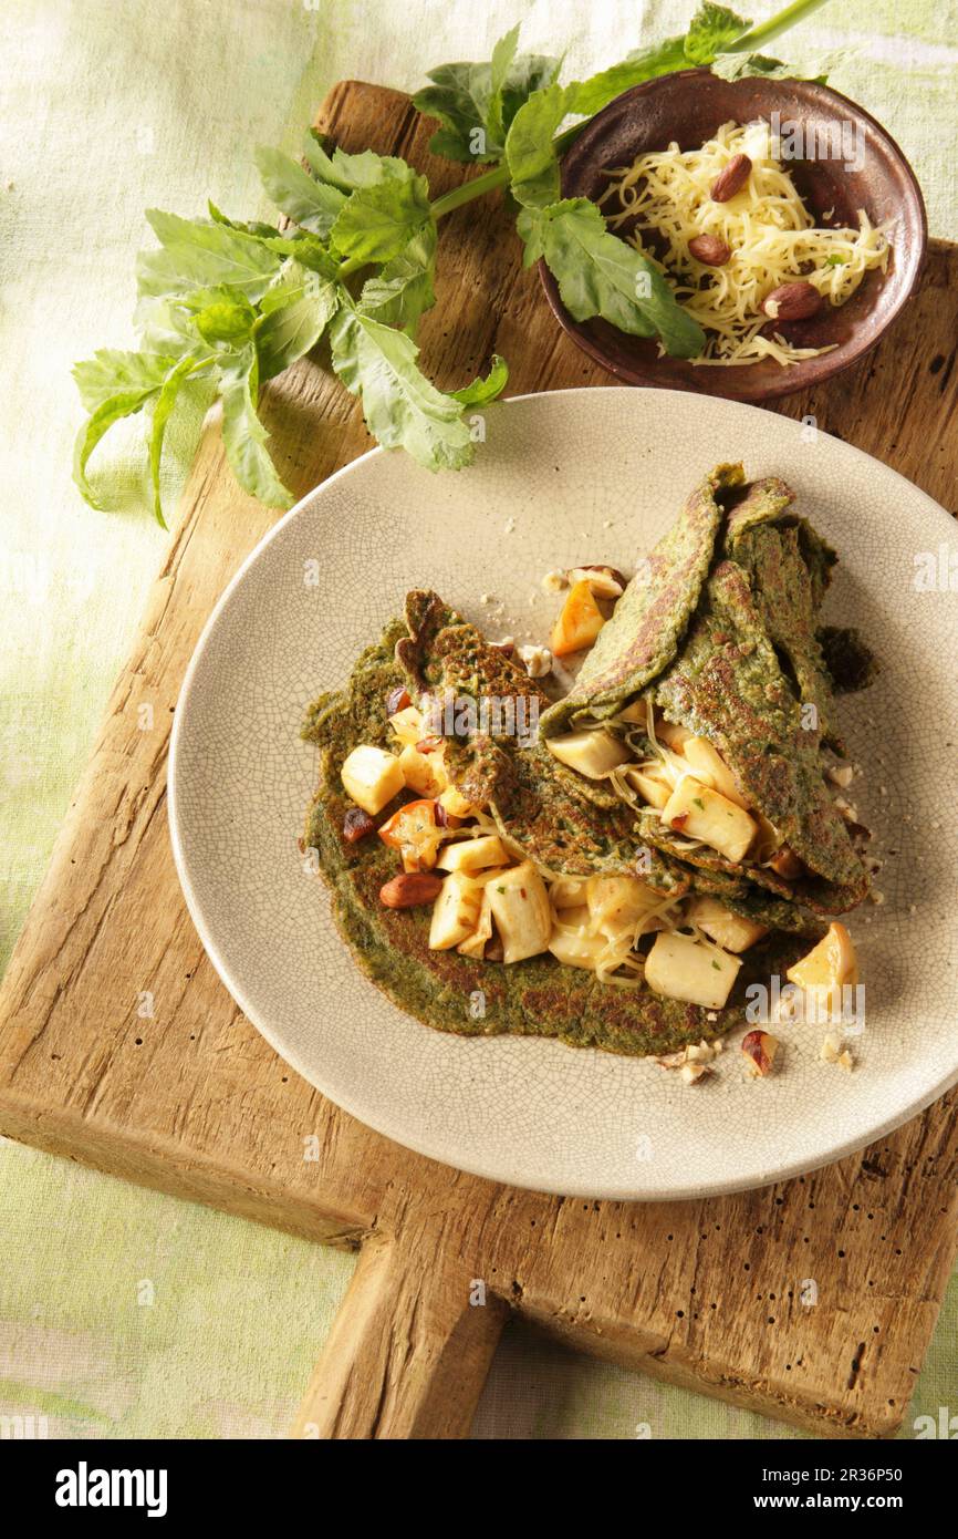
[[[852,125],[852,143],[863,148],[860,169],[846,169],[849,159],[858,159],[855,155],[844,160],[789,160],[787,166],[817,223],[824,223],[823,215],[833,209],[830,225],[857,226],[860,208],[873,223],[890,222],[887,271],[867,272],[858,291],[838,309],[827,306],[801,326],[783,328],[798,346],[835,343],[832,352],[787,368],[773,359],[741,368],[697,368],[686,359],[660,359],[655,339],[629,337],[600,319],[574,320],[563,306],[555,279],[540,262],[540,277],[560,323],[580,348],[629,385],[658,385],[750,402],[790,396],[847,369],[873,348],[912,294],[927,242],[924,202],[915,174],[873,117],[838,91],[809,80],[727,82],[707,69],[681,69],[634,86],[600,112],[566,152],[561,165],[563,197],[597,199],[607,186],[603,172],[612,166],[667,149],[672,140],[681,149],[697,149],[721,123],[767,122],[772,112],[778,112],[783,123],[803,123],[807,139],[817,129],[820,142],[823,129],[830,126],[832,132],[838,132],[843,123]]]

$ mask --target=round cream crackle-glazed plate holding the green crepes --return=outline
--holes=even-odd
[[[404,1014],[357,966],[298,848],[317,783],[304,708],[349,679],[411,589],[486,636],[543,642],[554,569],[635,573],[717,465],[781,477],[840,553],[823,619],[869,639],[881,673],[841,699],[880,902],[846,916],[866,988],[843,1028],[786,1020],[775,1071],[746,1073],[743,1030],[697,1083],[655,1059],[546,1037],[455,1036]],[[680,1199],[841,1157],[958,1079],[950,811],[958,616],[947,514],[824,432],[733,402],[581,389],[503,402],[477,463],[431,476],[374,449],[303,499],[243,565],[189,666],[171,757],[172,842],[223,982],[323,1094],[417,1150],[514,1185]],[[375,836],[374,836],[375,837]],[[398,866],[397,866],[398,870]],[[524,963],[518,962],[517,966]]]

